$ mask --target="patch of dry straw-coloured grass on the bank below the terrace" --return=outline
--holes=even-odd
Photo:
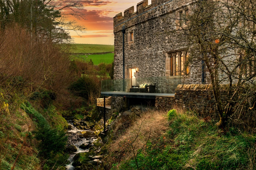
[[[112,156],[107,157],[106,162],[113,162],[118,158],[128,160],[135,157],[137,151],[144,149],[148,140],[163,135],[169,125],[166,114],[165,111],[150,110],[141,114],[138,120],[132,121],[126,133],[108,146],[109,155]]]

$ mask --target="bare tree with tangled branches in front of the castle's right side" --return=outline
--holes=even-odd
[[[196,0],[190,5],[186,14],[165,18],[173,25],[167,33],[186,44],[187,65],[205,64],[220,116],[218,126],[225,128],[238,108],[254,108],[255,90],[248,89],[255,86],[256,76],[256,1]],[[226,98],[221,96],[221,84],[226,84]]]

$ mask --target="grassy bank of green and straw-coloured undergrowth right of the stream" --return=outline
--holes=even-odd
[[[216,123],[194,112],[147,112],[105,148],[103,169],[256,169],[256,136]]]

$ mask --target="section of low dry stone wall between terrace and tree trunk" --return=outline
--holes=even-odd
[[[178,85],[175,89],[175,96],[156,96],[155,106],[166,109],[178,106],[187,110],[194,110],[202,117],[211,116],[218,119],[216,103],[211,89],[211,84]],[[225,91],[222,91],[221,94],[223,98],[227,96]]]

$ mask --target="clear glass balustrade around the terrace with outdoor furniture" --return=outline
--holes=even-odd
[[[141,84],[156,84],[155,93],[175,93],[175,88],[180,84],[178,76],[143,77],[137,79],[118,79],[101,81],[102,92],[130,92],[133,86]]]

